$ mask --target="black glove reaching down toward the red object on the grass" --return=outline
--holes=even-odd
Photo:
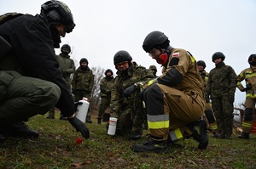
[[[76,116],[68,119],[70,124],[75,127],[77,132],[81,132],[84,138],[90,138],[90,132],[87,127],[85,127],[84,122],[80,121]]]

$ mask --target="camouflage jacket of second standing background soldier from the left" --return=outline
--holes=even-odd
[[[81,66],[74,72],[72,79],[72,90],[84,90],[91,92],[94,85],[94,75],[92,70],[87,66],[86,70],[81,70]]]

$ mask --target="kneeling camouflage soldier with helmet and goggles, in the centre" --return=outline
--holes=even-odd
[[[133,62],[125,50],[114,54],[113,64],[118,71],[111,91],[110,114],[118,118],[116,134],[130,134],[130,139],[137,140],[143,134],[143,101],[138,92],[125,95],[124,91],[131,84],[154,76],[150,70]]]

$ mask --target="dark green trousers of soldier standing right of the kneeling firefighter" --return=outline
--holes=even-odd
[[[233,103],[229,102],[228,96],[212,98],[212,110],[218,125],[218,131],[226,136],[231,136],[233,132]]]

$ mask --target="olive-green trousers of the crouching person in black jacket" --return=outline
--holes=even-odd
[[[54,107],[61,89],[52,82],[0,71],[0,123],[25,121]]]

